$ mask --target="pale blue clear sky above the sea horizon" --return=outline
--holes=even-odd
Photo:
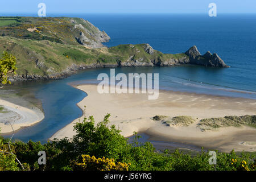
[[[0,0],[1,14],[38,13],[38,4],[46,4],[46,13],[208,13],[216,3],[217,13],[256,13],[256,0]]]

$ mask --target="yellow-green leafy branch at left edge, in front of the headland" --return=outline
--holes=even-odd
[[[16,57],[3,52],[2,58],[0,59],[0,85],[11,84],[8,80],[8,75],[10,73],[16,74]]]

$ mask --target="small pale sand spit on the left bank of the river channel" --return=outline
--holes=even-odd
[[[43,112],[37,107],[28,109],[5,100],[0,100],[0,107],[2,108],[0,111],[1,134],[34,125],[44,119]],[[11,125],[13,125],[13,129]]]

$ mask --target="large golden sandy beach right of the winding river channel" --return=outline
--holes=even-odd
[[[223,127],[213,131],[201,131],[197,127],[197,123],[204,118],[255,115],[255,100],[164,90],[159,90],[157,100],[148,100],[147,94],[100,94],[97,85],[75,87],[88,94],[77,104],[82,110],[86,106],[86,117],[93,115],[98,122],[110,113],[110,125],[117,126],[125,137],[136,131],[146,133],[154,140],[193,144],[221,151],[256,151],[256,130],[253,127]],[[155,115],[189,115],[196,122],[189,126],[166,126],[152,120]],[[74,123],[82,121],[82,118],[57,131],[50,139],[71,138],[75,134]]]

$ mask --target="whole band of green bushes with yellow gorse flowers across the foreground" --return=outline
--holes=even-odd
[[[129,143],[115,126],[109,126],[110,114],[103,121],[96,122],[93,117],[76,123],[73,138],[55,139],[41,144],[29,141],[10,144],[15,155],[0,152],[1,170],[22,170],[15,156],[26,170],[180,170],[180,171],[255,171],[255,156],[249,153],[237,155],[218,152],[217,164],[210,165],[208,152],[203,150],[196,156],[164,150],[156,152],[150,142],[138,142],[135,134]],[[9,140],[0,138],[0,149],[8,151]],[[46,165],[38,164],[38,152],[46,152]]]

